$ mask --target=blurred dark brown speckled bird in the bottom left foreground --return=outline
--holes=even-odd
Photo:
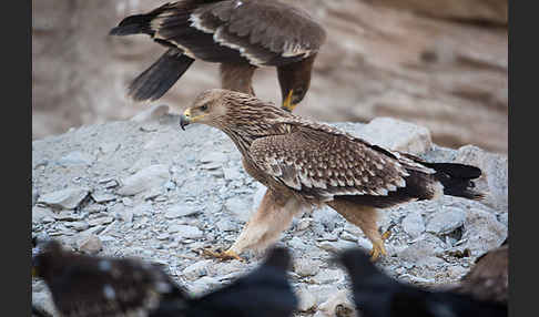
[[[135,259],[79,255],[49,242],[33,258],[62,316],[153,316],[162,300],[185,294],[157,266]]]

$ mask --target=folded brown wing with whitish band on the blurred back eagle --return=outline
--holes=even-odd
[[[189,4],[190,2],[187,2]],[[191,4],[192,6],[192,4]],[[152,21],[155,38],[196,58],[283,65],[317,53],[326,33],[305,11],[278,1],[169,4]]]

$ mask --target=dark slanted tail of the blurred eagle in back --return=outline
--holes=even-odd
[[[183,75],[194,59],[176,48],[169,49],[129,86],[129,95],[135,101],[157,100]]]

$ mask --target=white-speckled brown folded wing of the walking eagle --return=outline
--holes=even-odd
[[[250,150],[258,168],[307,197],[387,195],[406,186],[407,168],[433,172],[329,126],[297,125],[292,133],[257,139]]]

